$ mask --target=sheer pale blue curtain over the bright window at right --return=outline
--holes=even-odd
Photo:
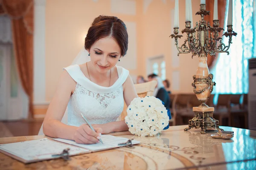
[[[228,1],[227,6],[228,9]],[[224,26],[227,26],[227,12]],[[248,93],[248,60],[256,57],[255,51],[255,6],[253,0],[233,0],[233,31],[229,52],[221,53],[216,60],[211,73],[214,75],[216,86],[213,93],[242,94]],[[224,28],[227,31],[227,27]],[[223,37],[225,44],[228,38]]]

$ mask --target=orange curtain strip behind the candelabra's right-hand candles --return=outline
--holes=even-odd
[[[206,0],[206,10],[210,11],[210,15],[207,15],[204,17],[204,20],[207,22],[210,22],[210,25],[213,26],[213,8],[214,8],[214,0]],[[224,30],[227,30],[227,26],[224,26],[224,20],[225,20],[225,11],[226,11],[226,0],[218,0],[218,20],[220,20],[219,27],[224,28]],[[223,31],[219,33],[219,36],[221,37],[223,34]],[[215,53],[216,58],[218,57],[218,53]],[[208,55],[207,57],[207,65],[209,68],[213,67],[214,60],[216,59],[214,56]]]

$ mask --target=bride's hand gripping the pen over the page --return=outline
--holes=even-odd
[[[77,127],[73,140],[79,144],[95,144],[99,143],[102,128],[94,128],[94,132],[87,124]]]

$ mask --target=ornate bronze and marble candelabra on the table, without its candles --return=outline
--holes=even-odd
[[[181,32],[186,33],[187,37],[184,43],[179,47],[178,38],[183,37],[179,35],[179,28],[174,28],[174,34],[170,37],[175,38],[175,45],[179,54],[192,53],[192,58],[195,55],[199,57],[199,65],[197,73],[193,76],[194,82],[192,82],[193,90],[201,105],[193,107],[194,117],[189,120],[189,127],[184,130],[189,130],[193,127],[196,129],[201,127],[201,133],[205,134],[207,129],[218,129],[219,121],[213,118],[214,108],[205,104],[209,99],[209,96],[213,90],[215,82],[213,82],[213,74],[209,74],[207,65],[207,55],[215,56],[215,53],[227,53],[232,43],[232,36],[236,36],[236,32],[233,31],[232,25],[227,26],[227,32],[223,35],[229,37],[228,45],[222,42],[222,38],[219,37],[219,33],[224,30],[219,27],[219,20],[213,20],[213,26],[210,26],[204,20],[204,16],[209,15],[209,11],[205,10],[206,5],[200,4],[200,11],[196,15],[201,15],[201,20],[196,22],[195,28],[191,28],[191,21],[186,21],[185,29]]]

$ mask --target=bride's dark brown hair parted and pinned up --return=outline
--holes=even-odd
[[[97,40],[105,37],[112,37],[121,48],[121,56],[125,56],[128,49],[128,33],[122,20],[112,16],[96,17],[87,32],[84,48],[89,50]]]

